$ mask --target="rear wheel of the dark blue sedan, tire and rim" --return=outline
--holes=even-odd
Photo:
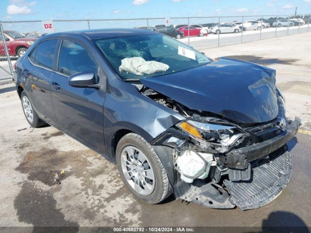
[[[31,125],[31,127],[38,128],[47,124],[38,117],[25,91],[21,92],[20,100],[26,120]]]

